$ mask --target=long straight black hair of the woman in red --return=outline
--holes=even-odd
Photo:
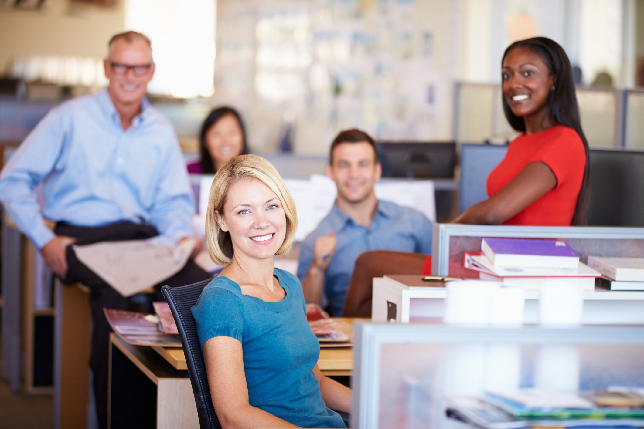
[[[501,66],[506,59],[507,53],[515,48],[528,48],[538,55],[548,68],[550,75],[554,76],[554,89],[550,91],[547,100],[547,116],[554,125],[570,127],[579,134],[586,151],[586,167],[583,172],[582,188],[577,196],[577,203],[574,208],[574,215],[571,224],[588,224],[588,206],[590,199],[590,160],[588,151],[588,140],[583,134],[582,123],[579,118],[577,96],[574,91],[573,69],[570,60],[565,54],[564,48],[547,37],[533,37],[524,41],[514,42],[507,47],[503,53]],[[507,104],[506,97],[503,98],[503,111],[506,114],[507,122],[516,131],[526,131],[526,123],[522,116],[516,116]]]

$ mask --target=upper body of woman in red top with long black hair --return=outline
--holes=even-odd
[[[586,224],[588,142],[564,49],[546,37],[514,42],[503,55],[502,80],[507,121],[522,134],[489,174],[489,199],[453,223]]]

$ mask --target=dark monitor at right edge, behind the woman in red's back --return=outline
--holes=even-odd
[[[644,226],[644,151],[591,150],[588,224]]]

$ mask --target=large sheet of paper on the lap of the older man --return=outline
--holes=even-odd
[[[162,235],[147,240],[73,246],[76,257],[124,297],[131,297],[178,273],[193,248],[192,240],[172,246]]]

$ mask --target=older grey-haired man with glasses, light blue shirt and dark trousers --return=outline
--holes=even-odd
[[[102,309],[128,310],[131,300],[84,266],[70,244],[162,234],[173,242],[195,241],[194,253],[201,248],[193,237],[192,191],[175,131],[145,98],[155,73],[149,39],[137,32],[115,35],[104,66],[108,87],[52,109],[0,174],[0,201],[48,266],[66,284],[91,289],[90,365],[101,428],[107,426],[110,331]],[[53,232],[44,218],[56,222]],[[209,277],[189,260],[162,284]]]

